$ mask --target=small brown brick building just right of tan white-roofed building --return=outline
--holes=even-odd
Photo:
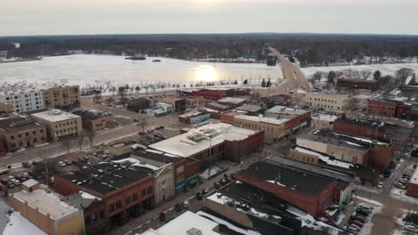
[[[81,117],[81,126],[88,132],[102,131],[115,125],[110,112],[80,109],[72,113]]]

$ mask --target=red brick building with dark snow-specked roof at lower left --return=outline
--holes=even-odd
[[[102,163],[54,178],[54,189],[63,196],[80,190],[100,203],[85,210],[86,226],[104,231],[126,223],[155,206],[153,170],[142,166]],[[88,223],[89,222],[89,223]]]

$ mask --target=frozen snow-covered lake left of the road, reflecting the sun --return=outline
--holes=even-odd
[[[160,59],[161,62],[153,62]],[[199,81],[235,81],[282,77],[280,67],[265,64],[208,63],[148,57],[146,61],[125,60],[123,56],[73,54],[44,57],[42,61],[0,63],[0,84],[59,83],[72,85],[146,85],[156,82],[190,84]]]

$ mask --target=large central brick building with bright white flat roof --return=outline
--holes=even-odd
[[[252,131],[224,123],[208,124],[188,133],[180,134],[149,147],[183,158],[200,160],[206,168],[218,160],[238,162],[249,154],[263,148],[263,130]]]

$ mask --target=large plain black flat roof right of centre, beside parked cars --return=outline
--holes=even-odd
[[[302,169],[293,169],[286,166],[272,165],[266,162],[255,162],[238,174],[257,178],[270,182],[272,187],[280,185],[288,189],[297,190],[305,194],[314,195],[321,193],[334,181],[329,177],[313,174]]]

